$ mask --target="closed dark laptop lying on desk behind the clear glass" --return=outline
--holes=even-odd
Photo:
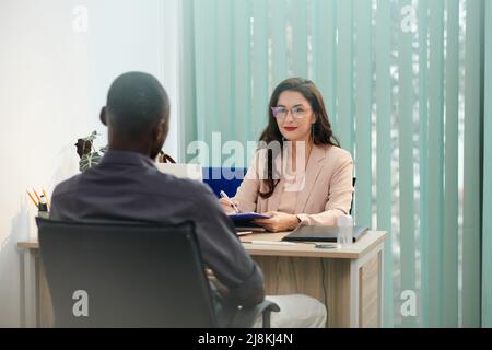
[[[303,242],[337,242],[339,230],[339,226],[298,226],[282,240]],[[353,226],[352,230],[354,243],[367,232],[367,228],[364,226]]]

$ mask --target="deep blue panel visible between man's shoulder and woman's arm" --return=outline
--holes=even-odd
[[[245,167],[203,167],[203,182],[210,186],[218,198],[221,190],[233,197],[246,172]]]

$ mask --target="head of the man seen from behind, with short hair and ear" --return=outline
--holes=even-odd
[[[109,88],[101,121],[108,127],[110,150],[134,151],[154,159],[169,127],[167,93],[150,74],[121,74]]]

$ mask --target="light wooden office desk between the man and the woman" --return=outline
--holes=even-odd
[[[245,241],[280,241],[286,233],[242,236]],[[314,244],[251,245],[246,250],[261,267],[267,294],[303,293],[328,306],[329,327],[383,325],[383,261],[386,233],[371,231],[350,248],[319,249]],[[49,327],[51,300],[37,241],[25,249],[26,326]]]

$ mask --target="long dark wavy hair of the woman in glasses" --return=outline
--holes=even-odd
[[[279,101],[279,96],[284,91],[295,91],[301,93],[304,98],[306,98],[309,104],[313,113],[316,117],[316,122],[313,128],[313,143],[317,145],[335,145],[340,147],[340,142],[333,136],[333,131],[331,130],[331,124],[328,119],[328,113],[326,112],[325,102],[323,100],[323,95],[316,85],[307,79],[303,78],[290,78],[281,82],[276,90],[273,91],[270,97],[270,104],[268,106],[268,126],[261,133],[259,139],[260,148],[261,144],[270,144],[272,141],[277,141],[280,143],[280,152],[283,149],[283,137],[280,132],[279,126],[277,125],[277,120],[273,117],[273,113],[271,110],[272,107],[277,106]],[[270,198],[273,195],[277,184],[280,182],[278,177],[278,170],[273,166],[273,159],[278,155],[274,148],[267,149],[267,166],[265,170],[267,171],[267,176],[263,175],[263,183],[267,186],[267,191],[259,191],[261,198]],[[273,179],[273,174],[276,174],[276,179]]]

